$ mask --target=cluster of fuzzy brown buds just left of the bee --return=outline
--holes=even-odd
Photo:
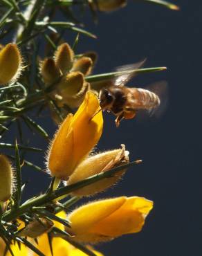
[[[96,55],[93,52],[75,56],[73,49],[67,43],[61,44],[53,58],[46,58],[41,64],[41,74],[46,86],[56,83],[50,96],[58,107],[79,107],[90,84],[85,81],[95,64]],[[59,82],[57,82],[59,81]]]

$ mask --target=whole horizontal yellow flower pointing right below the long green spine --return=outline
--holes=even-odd
[[[68,214],[71,228],[66,228],[66,231],[73,232],[77,241],[108,241],[142,230],[152,208],[152,201],[137,196],[95,201]]]

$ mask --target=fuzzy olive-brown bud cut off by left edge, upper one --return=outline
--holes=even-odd
[[[7,84],[20,75],[21,54],[16,44],[6,44],[0,51],[0,84]]]

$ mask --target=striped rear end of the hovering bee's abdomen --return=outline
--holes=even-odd
[[[160,105],[160,98],[156,93],[152,93],[152,91],[141,88],[137,88],[137,90],[139,93],[140,104],[145,109],[152,109]]]

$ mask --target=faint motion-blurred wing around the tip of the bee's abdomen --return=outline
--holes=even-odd
[[[149,84],[145,86],[145,89],[152,91],[160,98],[160,105],[155,109],[150,109],[149,111],[139,110],[137,113],[136,120],[145,121],[149,118],[158,119],[165,113],[168,103],[168,85],[166,81],[155,82],[154,84]]]

